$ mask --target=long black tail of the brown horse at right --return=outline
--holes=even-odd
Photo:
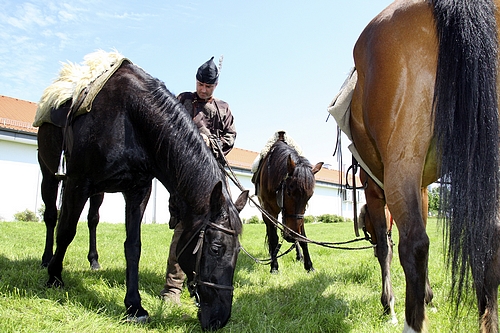
[[[434,134],[441,157],[452,295],[469,265],[481,293],[499,206],[497,34],[493,0],[432,0],[439,38]],[[477,294],[480,297],[480,294]],[[458,303],[457,303],[458,304]]]

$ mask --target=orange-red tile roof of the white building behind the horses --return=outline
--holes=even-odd
[[[0,95],[0,129],[37,133],[37,128],[32,126],[36,108],[36,103]],[[250,171],[257,154],[259,153],[234,148],[227,155],[227,160],[232,167]],[[343,177],[340,171],[326,168],[316,174],[316,180],[333,184],[340,184],[341,180],[345,182]],[[357,181],[359,184],[359,179]]]

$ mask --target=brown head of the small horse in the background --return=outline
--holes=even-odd
[[[285,225],[298,234],[303,233],[306,205],[314,193],[314,174],[322,166],[323,162],[311,166],[305,159],[297,163],[293,160],[292,155],[288,156],[288,173],[281,183],[278,195],[281,196],[279,200],[281,200],[281,213]],[[286,231],[283,236],[285,240],[295,242],[294,237]]]

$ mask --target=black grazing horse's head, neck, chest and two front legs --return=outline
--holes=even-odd
[[[102,86],[90,112],[69,118],[65,190],[47,285],[63,285],[62,262],[87,199],[122,192],[126,202],[125,307],[129,320],[147,321],[138,290],[140,227],[156,177],[186,207],[180,217],[184,233],[177,248],[178,261],[200,306],[201,326],[223,327],[231,315],[242,231],[238,213],[248,192],[233,203],[223,169],[184,107],[163,82],[128,61]]]

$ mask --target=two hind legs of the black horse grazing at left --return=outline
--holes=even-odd
[[[60,109],[68,109],[71,100],[64,103]],[[42,266],[47,267],[53,256],[54,231],[57,224],[57,191],[59,179],[56,172],[59,166],[63,143],[63,128],[51,124],[43,123],[38,128],[38,163],[42,171],[41,194],[45,204],[43,220],[45,222],[45,248],[42,255]],[[87,259],[90,268],[99,269],[99,254],[97,252],[96,230],[99,223],[99,207],[102,204],[104,194],[99,193],[90,197],[87,224],[89,228],[89,252]]]

